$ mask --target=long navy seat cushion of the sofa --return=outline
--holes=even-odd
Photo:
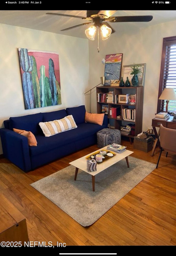
[[[101,129],[102,126],[100,125],[92,123],[81,123],[78,125],[78,128],[65,131],[64,134],[58,133],[50,137],[37,135],[37,147],[30,147],[30,154],[34,156],[53,150],[54,148],[58,148],[59,150],[63,145],[69,145],[70,143],[77,142],[80,139],[94,136],[94,134],[96,134],[97,131]]]

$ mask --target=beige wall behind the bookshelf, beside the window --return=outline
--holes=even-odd
[[[113,24],[112,24],[113,25]],[[100,39],[100,52],[97,41],[89,41],[90,86],[100,83],[105,66],[101,60],[108,54],[123,53],[123,65],[146,63],[144,80],[143,131],[151,127],[155,117],[160,79],[160,65],[163,37],[176,36],[176,21],[162,23],[148,28],[128,27],[116,32],[109,39]],[[92,112],[97,111],[96,90],[92,90]]]

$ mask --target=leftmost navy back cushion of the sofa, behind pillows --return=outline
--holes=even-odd
[[[43,114],[37,113],[32,115],[24,115],[21,117],[10,117],[10,130],[19,129],[31,131],[34,135],[40,133],[40,126],[38,123],[43,121]]]

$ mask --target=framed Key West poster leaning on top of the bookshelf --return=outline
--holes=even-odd
[[[121,71],[122,71],[123,53],[116,53],[106,55],[105,58],[105,85],[117,84],[119,85]]]

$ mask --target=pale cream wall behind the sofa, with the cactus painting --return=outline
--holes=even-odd
[[[49,112],[82,104],[89,88],[88,40],[0,24],[0,128],[12,116]],[[17,48],[59,53],[62,105],[25,110]],[[89,104],[89,103],[88,103]],[[89,109],[89,105],[86,107]],[[2,145],[0,141],[0,154]]]

